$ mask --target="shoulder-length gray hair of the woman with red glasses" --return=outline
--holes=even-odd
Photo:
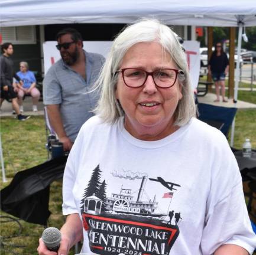
[[[177,35],[158,20],[143,19],[129,25],[115,38],[111,51],[102,67],[99,79],[95,83],[95,89],[99,89],[101,96],[94,112],[101,117],[103,122],[114,123],[125,114],[115,98],[118,81],[116,71],[119,70],[119,65],[121,65],[125,53],[138,42],[153,41],[158,42],[170,54],[177,68],[184,72],[184,75],[178,76],[183,97],[174,113],[174,125],[183,126],[196,115],[195,99],[190,84],[186,54],[177,39]]]

